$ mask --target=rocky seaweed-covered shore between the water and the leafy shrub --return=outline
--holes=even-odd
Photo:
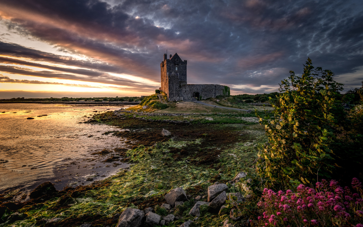
[[[121,227],[125,225],[119,223],[128,222],[133,214],[139,215],[142,226],[152,226],[156,222],[159,226],[172,227],[203,223],[210,223],[209,226],[248,225],[243,218],[236,219],[233,215],[231,218],[231,209],[223,207],[222,202],[225,197],[231,198],[229,195],[247,199],[242,196],[242,182],[233,177],[241,171],[254,171],[256,147],[264,142],[264,131],[256,123],[239,119],[242,115],[209,116],[225,122],[235,119],[239,123],[201,123],[206,114],[118,110],[94,115],[87,123],[130,129],[111,132],[113,136],[126,138],[130,149],[110,150],[112,157],[129,162],[130,167],[86,186],[67,187],[62,191],[50,190],[50,185],[39,186],[34,190],[44,191],[38,194],[39,197],[24,198],[20,203],[13,201],[12,195],[0,195],[3,212],[0,216],[4,222],[0,226],[17,223],[22,226]],[[140,117],[170,121],[151,122]],[[189,117],[191,123],[175,123],[184,117]],[[196,119],[195,122],[190,121],[190,117]],[[170,135],[163,136],[163,129]],[[186,199],[178,189],[179,194],[175,192],[178,196],[173,202],[170,198],[175,196],[167,195],[177,188],[185,192]]]

